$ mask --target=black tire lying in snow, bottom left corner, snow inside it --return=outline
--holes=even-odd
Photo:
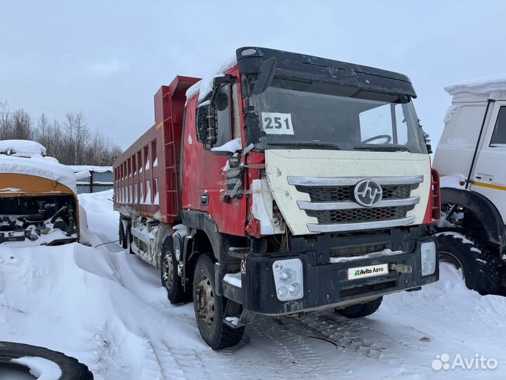
[[[35,379],[93,380],[88,367],[74,357],[47,348],[0,342],[0,379],[9,379],[15,373],[32,374]]]

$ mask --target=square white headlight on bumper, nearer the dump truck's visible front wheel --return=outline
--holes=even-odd
[[[297,300],[304,297],[304,279],[300,259],[273,262],[274,285],[278,300]]]

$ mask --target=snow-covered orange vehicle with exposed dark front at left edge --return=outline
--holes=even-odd
[[[70,167],[37,142],[0,141],[0,249],[78,241],[79,215]]]

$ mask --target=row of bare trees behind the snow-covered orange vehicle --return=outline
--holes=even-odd
[[[47,156],[65,165],[109,166],[122,148],[102,132],[91,131],[81,111],[70,111],[63,120],[50,121],[44,113],[37,120],[23,109],[12,110],[0,99],[0,140],[37,141]]]

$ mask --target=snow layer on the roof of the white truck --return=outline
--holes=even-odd
[[[444,88],[453,96],[453,103],[466,101],[487,101],[488,99],[506,99],[506,75],[502,78],[474,80],[462,84],[453,84]]]

